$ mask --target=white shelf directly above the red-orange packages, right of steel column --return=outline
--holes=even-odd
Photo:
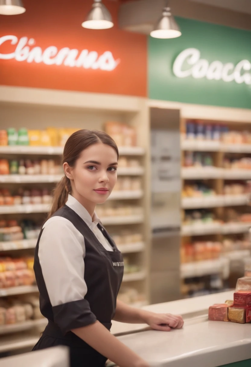
[[[251,223],[206,223],[182,226],[182,236],[202,236],[216,234],[245,233],[251,228]]]

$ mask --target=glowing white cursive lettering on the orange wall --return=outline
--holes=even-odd
[[[46,65],[65,65],[71,68],[84,69],[100,69],[105,71],[114,70],[119,64],[120,60],[115,60],[112,52],[105,51],[99,55],[96,51],[88,51],[72,49],[63,47],[58,50],[56,46],[49,46],[44,51],[41,47],[31,47],[35,44],[33,38],[21,37],[19,40],[16,36],[8,35],[0,37],[0,46],[5,42],[10,41],[11,45],[16,45],[14,52],[9,54],[0,53],[0,59],[16,61],[26,61],[28,63],[43,62]],[[79,56],[78,56],[79,55]]]

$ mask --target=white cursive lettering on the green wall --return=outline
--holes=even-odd
[[[251,73],[248,73],[251,70],[250,61],[242,60],[236,66],[232,62],[223,64],[217,60],[210,64],[208,60],[200,58],[200,51],[197,48],[187,48],[182,51],[175,59],[172,70],[178,78],[192,76],[194,79],[201,79],[205,77],[208,80],[225,82],[234,80],[238,84],[251,84]]]

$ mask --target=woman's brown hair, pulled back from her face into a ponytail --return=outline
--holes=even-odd
[[[62,164],[67,162],[70,167],[74,167],[76,160],[79,158],[83,150],[97,143],[103,143],[111,146],[116,151],[119,158],[118,147],[114,140],[108,134],[106,134],[106,132],[83,129],[74,132],[66,141],[65,148],[63,149]],[[68,193],[70,192],[70,179],[64,175],[54,189],[52,207],[47,219],[49,219],[58,209],[65,205]]]

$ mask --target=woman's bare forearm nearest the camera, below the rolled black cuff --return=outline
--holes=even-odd
[[[114,337],[99,321],[73,329],[72,332],[120,367],[149,367],[148,363]]]

